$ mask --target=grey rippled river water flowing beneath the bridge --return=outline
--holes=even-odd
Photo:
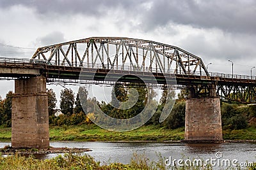
[[[0,148],[11,143],[0,143]],[[256,162],[256,143],[159,143],[159,142],[51,142],[53,147],[90,148],[92,155],[100,162],[121,162],[127,164],[131,161],[133,153],[144,154],[150,160],[158,160],[159,153],[166,159],[236,159],[237,163]],[[218,158],[216,157],[218,154]],[[49,159],[57,154],[36,155],[38,159]],[[221,156],[221,157],[220,157]],[[164,159],[165,160],[165,159]],[[168,162],[166,162],[168,163]],[[177,162],[176,162],[177,163]]]

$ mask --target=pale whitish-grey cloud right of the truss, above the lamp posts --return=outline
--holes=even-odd
[[[196,55],[202,57],[203,60],[211,59],[253,59],[255,58],[255,50],[252,46],[252,38],[249,36],[235,36],[230,38],[230,36],[218,36],[216,38],[208,38],[204,34],[192,34],[182,41],[182,46],[189,49],[189,52],[195,53]],[[244,40],[245,39],[245,40]]]

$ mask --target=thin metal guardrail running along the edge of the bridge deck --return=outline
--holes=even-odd
[[[60,65],[55,61],[51,60],[50,64],[47,64],[47,60],[43,59],[19,59],[19,58],[6,58],[0,57],[0,64],[1,63],[23,63],[23,64],[36,64],[36,65],[49,65],[49,66],[65,66],[70,67],[68,63],[63,62]],[[161,73],[161,70],[158,68],[151,68],[148,69],[147,67],[132,67],[132,66],[107,66],[106,64],[102,66],[102,64],[92,64],[92,63],[83,63],[83,66],[86,68],[95,68],[95,69],[115,69],[115,70],[122,70],[122,71],[138,71],[138,72],[152,72],[152,73]],[[166,74],[173,74],[175,73],[174,69],[166,69],[164,70]],[[177,73],[179,74],[179,73]],[[189,75],[196,75],[196,76],[207,76],[205,73],[195,72],[190,73]],[[239,74],[225,74],[225,73],[212,73],[209,72],[209,76],[220,77],[220,78],[234,78],[234,79],[243,79],[243,80],[256,80],[256,76],[248,76],[248,75],[239,75]]]

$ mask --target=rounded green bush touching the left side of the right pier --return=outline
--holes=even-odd
[[[178,127],[184,127],[185,125],[185,114],[186,114],[186,103],[184,101],[180,101],[173,106],[173,109],[164,120],[164,125],[168,129],[176,129]]]

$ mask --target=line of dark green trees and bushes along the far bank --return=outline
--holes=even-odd
[[[133,105],[135,100],[132,97],[138,93],[136,104],[131,108],[121,110],[125,106]],[[0,97],[0,126],[12,126],[12,97],[13,92],[10,91],[6,97]],[[168,92],[166,89],[161,94],[161,99],[153,101],[156,92],[147,89],[145,86],[138,87],[135,84],[129,83],[120,85],[116,83],[111,92],[111,101],[106,103],[104,101],[97,101],[95,97],[88,97],[88,90],[86,87],[79,87],[77,94],[72,89],[63,89],[60,92],[60,110],[63,115],[59,117],[54,116],[56,111],[56,94],[52,89],[47,89],[48,96],[48,110],[49,110],[49,124],[50,125],[81,125],[92,124],[92,120],[97,117],[95,114],[95,103],[99,106],[100,110],[113,118],[127,119],[138,115],[144,110],[148,101],[150,105],[156,106],[156,112],[148,120],[147,125],[157,125],[168,129],[176,129],[184,127],[186,103],[185,98],[188,92],[181,90],[178,99],[168,103],[168,99],[174,97],[173,92]],[[172,101],[172,100],[171,100]],[[170,106],[168,106],[168,104]],[[163,122],[159,122],[161,114],[164,112],[164,106],[172,107],[170,115]],[[241,104],[227,104],[221,103],[221,120],[223,129],[244,129],[248,127],[253,121],[256,120],[256,105],[245,106]],[[104,120],[102,120],[104,121]],[[253,123],[252,123],[253,124]],[[255,124],[253,124],[255,125]]]

